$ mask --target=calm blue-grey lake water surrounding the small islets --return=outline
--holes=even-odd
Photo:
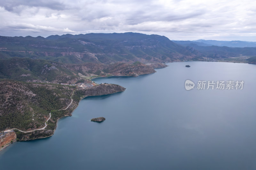
[[[0,169],[256,169],[256,65],[169,65],[136,78],[95,79],[126,91],[81,100],[52,137],[0,152]],[[187,79],[245,83],[243,90],[186,91]],[[106,121],[90,122],[100,116]]]

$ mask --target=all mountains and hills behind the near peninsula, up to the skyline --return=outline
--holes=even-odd
[[[76,83],[93,76],[152,73],[155,72],[152,68],[166,67],[162,64],[166,62],[255,63],[255,47],[222,46],[228,43],[234,41],[171,41],[165,36],[141,33],[65,34],[46,38],[0,36],[0,78]],[[140,64],[133,64],[136,62]]]

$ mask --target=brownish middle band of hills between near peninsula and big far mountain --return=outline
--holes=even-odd
[[[165,67],[162,63],[158,65]],[[41,59],[12,57],[0,59],[0,79],[40,83],[89,83],[88,79],[91,76],[138,76],[156,72],[151,66],[140,62],[133,64],[117,62],[109,65],[64,64]]]

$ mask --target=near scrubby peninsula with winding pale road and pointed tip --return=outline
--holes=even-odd
[[[52,136],[58,119],[71,116],[84,97],[125,90],[114,84],[77,88],[70,85],[2,80],[0,85],[4,94],[0,98],[3,103],[0,106],[1,129],[14,130],[20,141]],[[8,111],[11,113],[7,114]]]

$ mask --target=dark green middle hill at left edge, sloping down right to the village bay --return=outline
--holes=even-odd
[[[0,79],[13,79],[24,82],[71,83],[87,82],[74,74],[62,63],[12,57],[0,59]]]

